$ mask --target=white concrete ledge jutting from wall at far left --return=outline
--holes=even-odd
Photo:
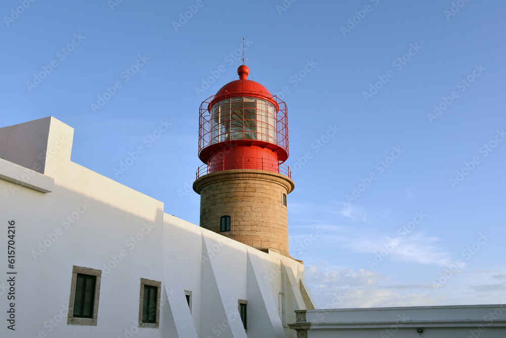
[[[52,192],[55,179],[0,158],[0,179],[36,191]]]

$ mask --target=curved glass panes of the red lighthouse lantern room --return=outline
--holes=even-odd
[[[210,143],[258,140],[276,143],[276,108],[266,100],[234,97],[211,108]]]

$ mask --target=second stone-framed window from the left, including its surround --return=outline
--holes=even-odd
[[[141,278],[139,327],[158,328],[160,324],[161,282]]]

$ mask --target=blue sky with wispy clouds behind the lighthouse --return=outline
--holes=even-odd
[[[6,0],[0,126],[52,115],[74,162],[198,224],[198,108],[238,78],[245,38],[249,78],[288,107],[290,254],[318,305],[503,303],[505,12]]]

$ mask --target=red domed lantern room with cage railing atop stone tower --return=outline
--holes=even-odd
[[[249,68],[200,105],[197,178],[233,169],[266,170],[290,177],[286,104],[260,83]],[[280,167],[281,165],[281,167]]]

